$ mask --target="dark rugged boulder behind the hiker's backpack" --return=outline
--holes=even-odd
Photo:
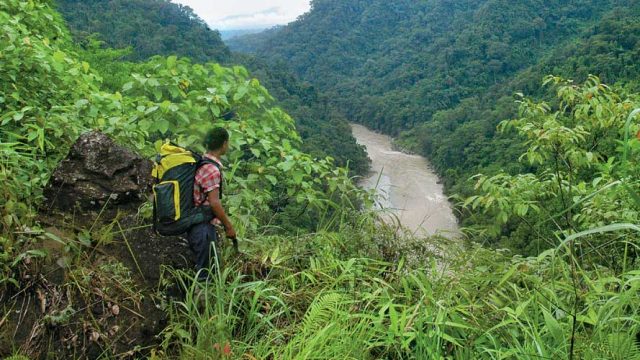
[[[152,184],[152,164],[101,132],[86,133],[53,172],[47,207],[68,210],[139,204]]]

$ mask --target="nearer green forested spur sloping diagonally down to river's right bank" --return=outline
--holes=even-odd
[[[520,145],[496,133],[496,126],[517,116],[513,94],[549,98],[542,78],[554,74],[582,82],[595,74],[608,84],[637,90],[640,85],[640,6],[616,8],[579,37],[563,43],[537,64],[512,78],[437,112],[432,120],[404,134],[404,143],[429,156],[450,183],[482,168],[517,168]],[[433,136],[438,134],[438,136]],[[464,189],[457,188],[462,191]]]

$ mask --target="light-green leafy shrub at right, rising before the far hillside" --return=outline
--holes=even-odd
[[[478,195],[464,204],[489,242],[534,254],[577,232],[640,218],[638,95],[596,77],[546,83],[557,90],[556,105],[523,98],[520,117],[500,127],[524,139],[520,159],[531,170],[476,176]],[[637,258],[639,239],[621,232],[587,237],[578,247],[581,256],[618,269],[623,253]]]

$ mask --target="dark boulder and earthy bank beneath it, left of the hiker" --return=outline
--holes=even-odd
[[[151,164],[101,133],[81,136],[55,170],[38,219],[46,260],[19,264],[0,293],[0,358],[136,357],[158,344],[163,304],[180,297],[162,268],[190,268],[183,239],[138,220]],[[175,288],[175,287],[174,287]]]

